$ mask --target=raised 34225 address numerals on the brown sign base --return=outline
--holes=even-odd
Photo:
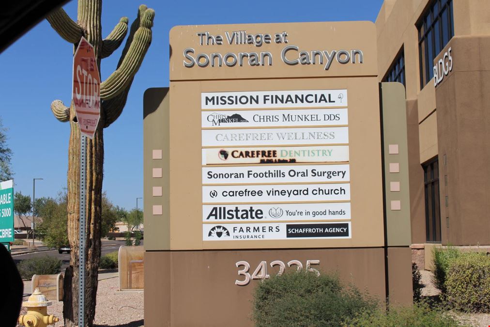
[[[306,260],[306,271],[307,272],[312,272],[317,274],[317,276],[320,276],[320,272],[315,269],[311,268],[312,265],[319,265],[320,260]],[[246,286],[250,283],[251,279],[267,279],[270,277],[270,275],[267,274],[267,262],[266,261],[261,261],[257,268],[255,268],[254,272],[250,276],[250,264],[246,261],[238,261],[236,264],[237,268],[240,266],[244,266],[244,269],[238,271],[238,276],[243,276],[244,280],[235,280],[235,285],[238,286]],[[297,272],[301,272],[303,270],[303,264],[299,260],[291,260],[287,263],[288,267],[291,266],[296,266],[297,267]],[[277,273],[277,276],[281,276],[284,271],[286,270],[286,264],[280,260],[274,260],[270,263],[270,267],[274,266],[279,266],[279,272]]]

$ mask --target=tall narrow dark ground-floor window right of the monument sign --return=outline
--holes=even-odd
[[[441,242],[439,162],[437,157],[422,165],[425,184],[425,233],[427,242]]]

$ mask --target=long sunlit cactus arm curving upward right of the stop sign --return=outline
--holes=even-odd
[[[155,11],[153,9],[142,10],[142,6],[140,6],[140,15],[137,19],[139,20],[139,27],[134,33],[129,48],[127,48],[126,43],[124,50],[127,49],[127,52],[123,53],[123,58],[122,61],[120,60],[118,68],[105,81],[100,83],[101,100],[115,98],[131,85],[134,75],[143,62],[151,43],[151,26],[153,26]],[[131,30],[133,30],[133,26],[131,26]]]

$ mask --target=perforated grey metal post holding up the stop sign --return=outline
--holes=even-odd
[[[85,173],[87,137],[80,135],[80,220],[78,234],[78,326],[85,327]]]

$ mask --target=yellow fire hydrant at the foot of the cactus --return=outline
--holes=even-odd
[[[27,308],[27,313],[19,316],[19,324],[22,326],[46,327],[54,325],[59,320],[53,315],[48,316],[48,305],[51,305],[51,302],[46,299],[39,288],[36,288],[29,300],[22,302],[22,305]]]

